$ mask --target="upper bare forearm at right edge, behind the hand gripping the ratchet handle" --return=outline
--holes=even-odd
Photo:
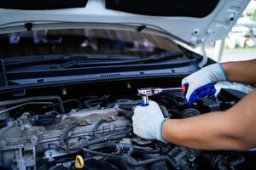
[[[256,83],[256,59],[222,64],[230,82]]]

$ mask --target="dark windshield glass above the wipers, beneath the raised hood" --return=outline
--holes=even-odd
[[[179,52],[171,40],[135,31],[63,29],[0,35],[0,56],[123,54],[147,57]]]

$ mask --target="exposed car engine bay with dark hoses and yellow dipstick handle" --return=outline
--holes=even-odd
[[[222,89],[189,107],[180,93],[152,97],[166,118],[224,111],[245,94]],[[248,169],[253,152],[193,150],[137,137],[137,95],[30,96],[0,101],[3,169]]]

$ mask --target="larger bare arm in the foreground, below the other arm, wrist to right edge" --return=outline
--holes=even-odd
[[[256,146],[256,91],[224,112],[212,112],[163,123],[163,138],[203,150],[248,150]]]

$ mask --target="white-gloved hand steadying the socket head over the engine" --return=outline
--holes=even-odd
[[[166,142],[162,137],[162,124],[165,121],[157,103],[149,100],[148,106],[138,105],[132,116],[133,132],[143,139],[158,139]]]

